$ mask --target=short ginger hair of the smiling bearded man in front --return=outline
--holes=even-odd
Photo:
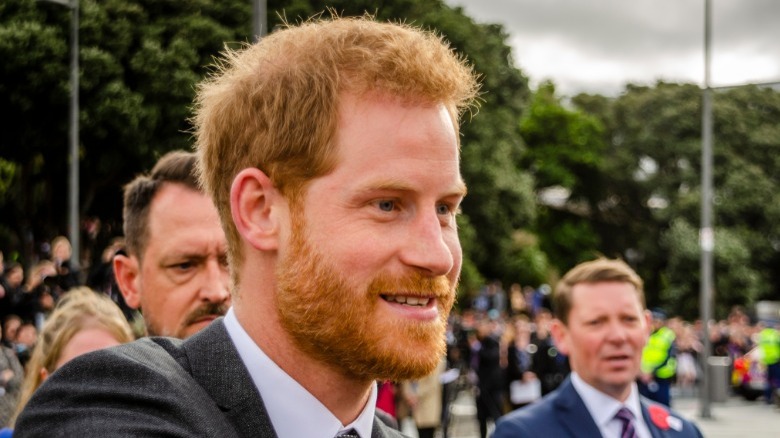
[[[237,280],[243,262],[230,187],[258,168],[293,206],[312,179],[335,166],[340,97],[379,93],[443,104],[458,119],[475,104],[472,68],[441,37],[370,16],[288,25],[242,50],[226,49],[195,102],[201,181],[214,199]]]

